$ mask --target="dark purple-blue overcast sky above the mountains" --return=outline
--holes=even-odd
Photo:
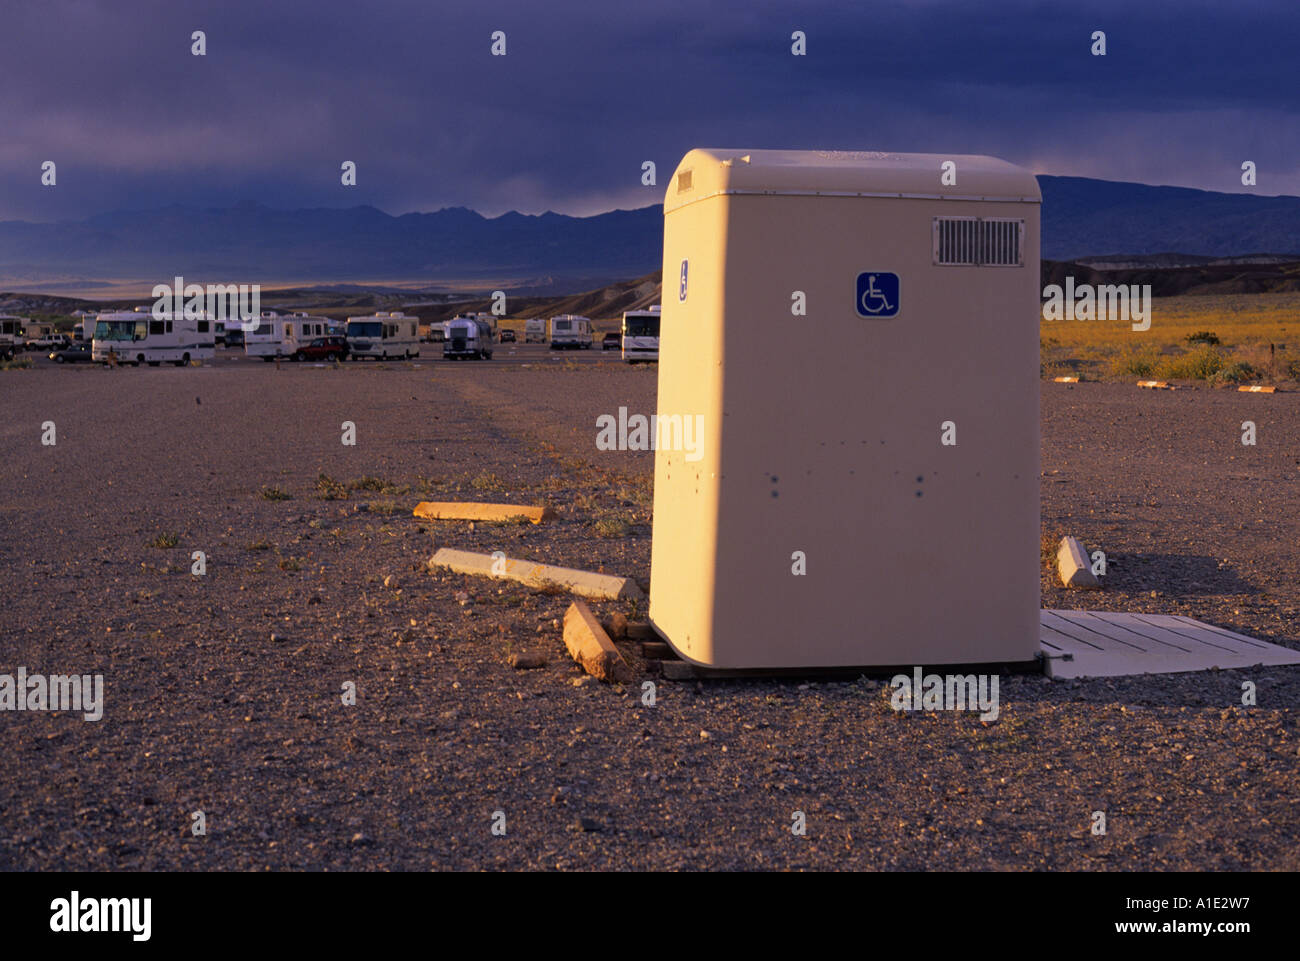
[[[0,0],[0,220],[588,215],[662,200],[694,146],[992,153],[1226,191],[1253,160],[1257,192],[1300,194],[1297,49],[1296,0]]]

